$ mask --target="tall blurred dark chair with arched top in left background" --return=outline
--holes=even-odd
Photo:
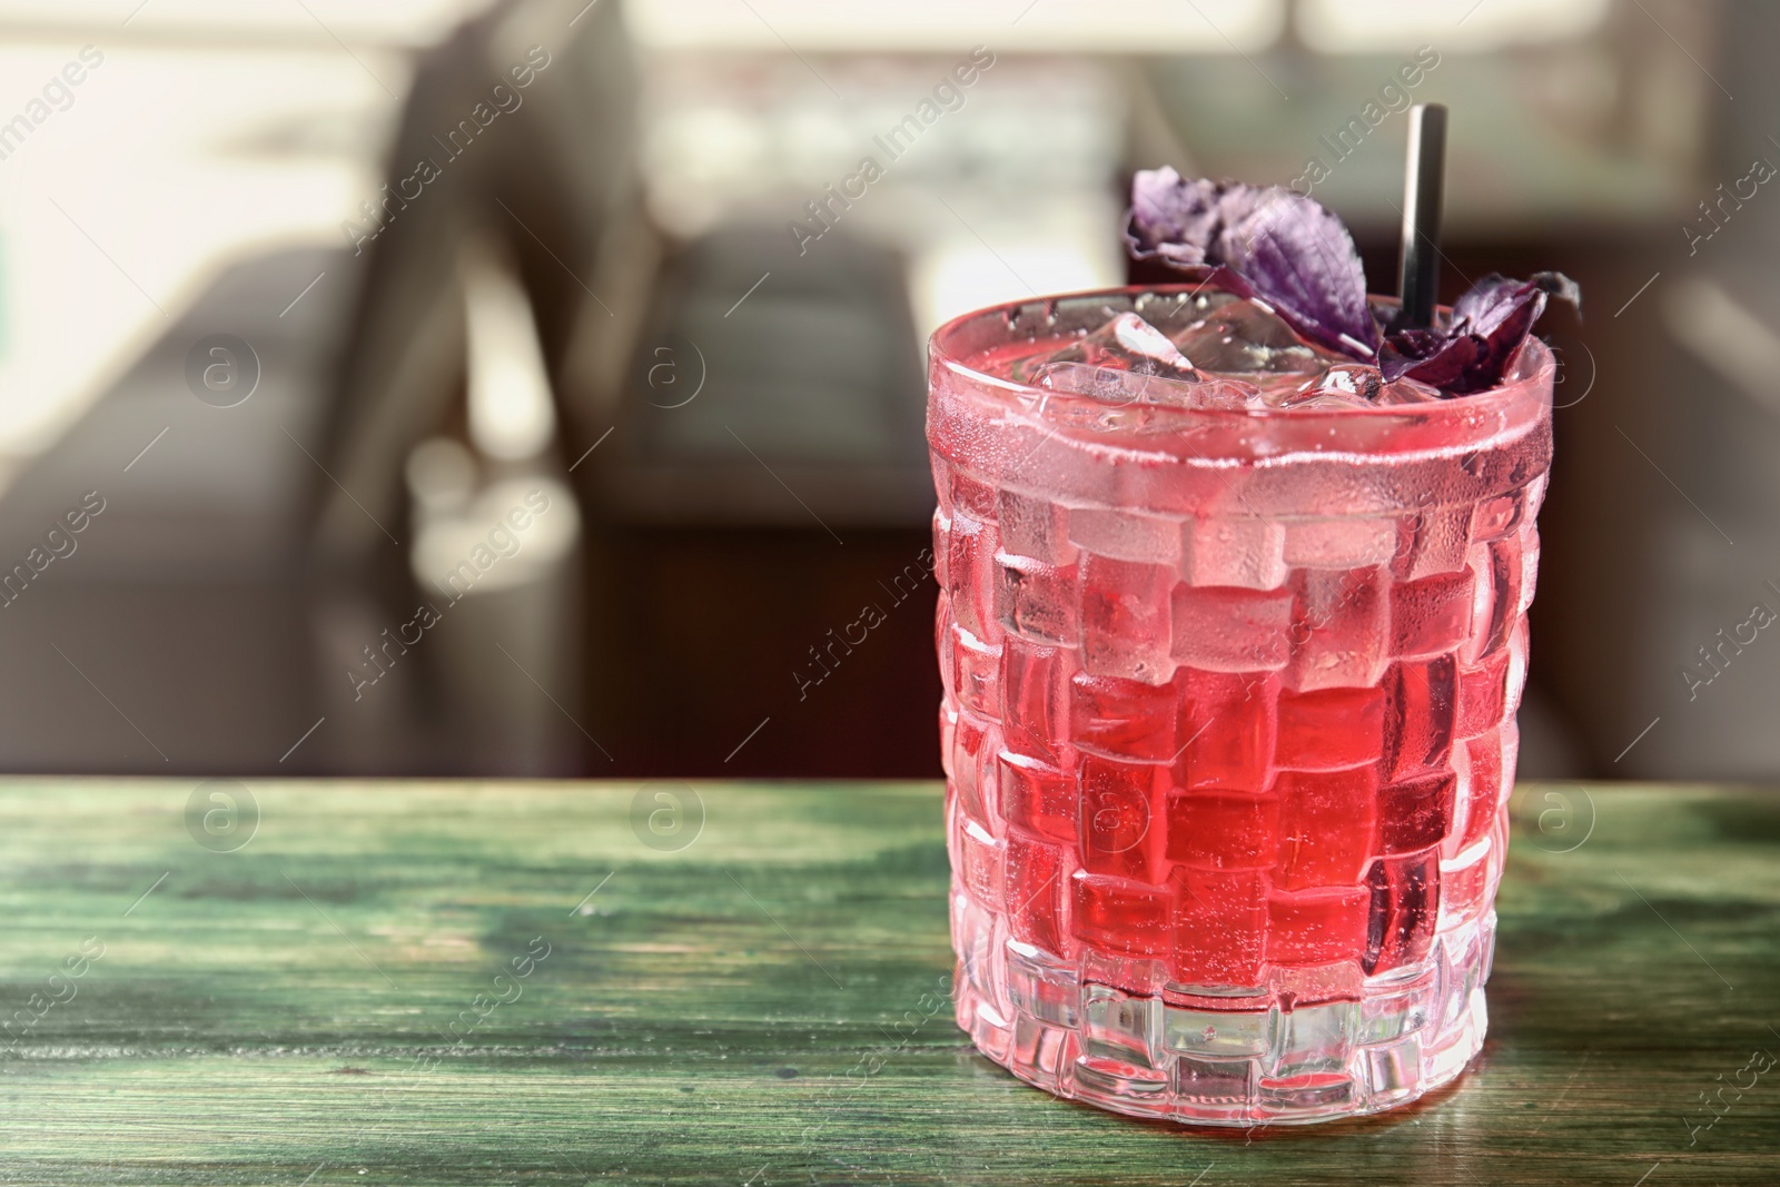
[[[495,402],[562,400],[570,340],[623,352],[607,340],[634,319],[596,292],[627,267],[618,244],[637,221],[632,98],[616,4],[507,0],[418,66],[388,189],[411,194],[420,162],[434,176],[418,198],[390,203],[368,242],[340,399],[317,450],[331,480],[317,486],[313,683],[317,712],[342,724],[317,747],[329,769],[570,774],[602,758],[580,721],[578,516],[561,480],[564,445],[593,441],[591,415],[564,402],[552,416],[561,436],[520,450],[488,440],[473,413],[473,311],[491,290],[513,294],[513,326],[481,336],[482,354],[500,356],[484,384]],[[427,491],[413,484],[425,488],[425,464],[409,463],[449,441],[472,459],[463,507],[449,529],[429,527]],[[530,489],[555,491],[552,530],[575,527],[557,562],[513,580],[514,562],[502,561],[493,580],[441,591],[441,569],[500,530],[509,507],[495,493]],[[452,536],[463,555],[427,546]],[[422,603],[443,623],[404,644],[399,623]],[[393,650],[384,630],[399,635]],[[365,676],[377,678],[374,694]]]

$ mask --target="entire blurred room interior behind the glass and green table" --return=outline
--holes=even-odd
[[[1388,290],[1442,101],[1445,299],[1586,294],[1522,774],[1773,778],[1775,44],[1755,0],[0,0],[0,769],[936,776],[924,336],[1125,281],[1157,164],[1296,182]]]

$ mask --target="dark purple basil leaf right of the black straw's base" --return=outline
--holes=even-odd
[[[1545,311],[1547,295],[1582,304],[1582,292],[1561,272],[1538,272],[1527,281],[1485,276],[1452,304],[1445,327],[1387,335],[1380,370],[1385,379],[1408,375],[1449,395],[1493,388]]]

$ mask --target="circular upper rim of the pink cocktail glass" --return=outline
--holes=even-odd
[[[1162,424],[1244,424],[1244,422],[1285,422],[1301,424],[1312,418],[1331,418],[1346,422],[1362,422],[1369,418],[1394,418],[1397,424],[1404,422],[1438,422],[1445,418],[1454,420],[1474,420],[1486,413],[1502,413],[1527,399],[1540,400],[1547,409],[1552,402],[1552,375],[1556,374],[1556,356],[1552,349],[1540,340],[1536,335],[1527,335],[1527,340],[1517,351],[1515,358],[1508,365],[1508,375],[1497,383],[1493,388],[1485,392],[1476,392],[1470,395],[1449,395],[1440,400],[1428,400],[1424,404],[1374,404],[1371,408],[1177,408],[1169,404],[1137,404],[1136,400],[1127,400],[1125,404],[1114,404],[1111,400],[1098,400],[1091,395],[1054,392],[1050,388],[1038,388],[1029,383],[1020,383],[1018,379],[1006,379],[1000,375],[991,375],[984,370],[977,370],[967,363],[954,349],[951,349],[963,333],[967,333],[974,324],[988,319],[1000,320],[1004,326],[1011,327],[1016,319],[1025,311],[1036,311],[1041,322],[1056,322],[1057,306],[1063,303],[1089,303],[1105,299],[1129,299],[1132,304],[1137,297],[1157,294],[1157,295],[1184,295],[1205,290],[1207,285],[1180,283],[1180,285],[1118,285],[1112,288],[1082,288],[1075,292],[1050,294],[1040,297],[1024,297],[1018,301],[1004,301],[1000,304],[983,306],[968,313],[959,313],[927,336],[927,365],[931,368],[943,367],[959,379],[965,379],[983,392],[999,392],[1009,399],[1011,404],[1018,404],[1025,413],[1038,413],[1045,416],[1045,408],[1057,397],[1066,397],[1068,402],[1091,402],[1100,404],[1107,409],[1123,408],[1143,408],[1145,413],[1153,416]],[[1219,288],[1218,292],[1226,292]],[[1367,303],[1396,304],[1397,297],[1369,294]],[[1440,313],[1451,313],[1451,306],[1436,306]],[[1007,342],[1013,340],[1009,335]],[[1353,359],[1356,367],[1365,367],[1360,359]],[[929,384],[931,386],[931,384]]]

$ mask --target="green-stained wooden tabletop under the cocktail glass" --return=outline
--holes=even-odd
[[[933,785],[194,787],[0,785],[0,1183],[1780,1182],[1760,792],[1522,788],[1474,1070],[1210,1132],[970,1052]]]

